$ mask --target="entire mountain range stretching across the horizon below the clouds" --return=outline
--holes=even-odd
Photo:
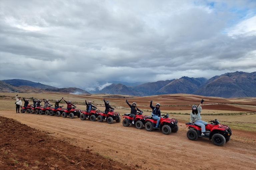
[[[0,82],[0,91],[19,91],[24,85],[32,86],[34,88],[41,88],[47,91],[60,92],[60,93],[73,93],[73,94],[89,94],[89,92],[78,88],[56,88],[53,86],[44,85],[41,83],[32,82],[27,80],[3,80],[9,82],[14,86],[8,86]],[[20,82],[24,81],[24,82]],[[27,84],[26,84],[27,83]],[[16,87],[19,86],[19,87]],[[27,87],[26,86],[26,87]],[[256,72],[233,72],[225,73],[220,76],[214,76],[210,79],[204,77],[190,78],[181,77],[179,79],[157,81],[143,83],[136,86],[126,86],[124,84],[111,84],[103,88],[102,90],[96,91],[97,93],[108,93],[108,94],[121,94],[121,95],[132,95],[132,96],[151,96],[161,94],[174,94],[174,93],[187,93],[201,96],[215,96],[223,98],[235,98],[235,97],[256,97]],[[34,89],[36,90],[36,89]],[[93,93],[93,92],[91,92]],[[95,93],[95,92],[94,92]]]

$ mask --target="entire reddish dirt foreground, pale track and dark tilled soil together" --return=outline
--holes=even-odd
[[[158,130],[123,127],[122,122],[108,124],[9,111],[0,111],[0,115],[26,124],[0,118],[0,169],[254,170],[256,167],[255,132],[232,129],[231,140],[224,146],[216,146],[205,138],[188,140],[184,122],[178,123],[177,133],[164,135]]]

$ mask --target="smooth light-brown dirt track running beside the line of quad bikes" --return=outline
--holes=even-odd
[[[161,131],[148,132],[121,123],[81,121],[80,118],[16,114],[0,111],[27,126],[50,132],[52,136],[137,169],[255,169],[255,133],[233,130],[231,140],[224,146],[215,146],[208,139],[188,140],[184,124],[179,131],[164,135]],[[251,137],[252,136],[252,137]]]

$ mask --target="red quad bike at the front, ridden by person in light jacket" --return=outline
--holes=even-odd
[[[209,121],[210,124],[205,125],[205,136],[201,136],[201,127],[194,123],[186,123],[189,130],[187,131],[187,137],[189,140],[197,140],[198,137],[204,137],[212,139],[213,143],[217,146],[223,146],[230,140],[232,131],[229,126],[220,125],[219,121]]]

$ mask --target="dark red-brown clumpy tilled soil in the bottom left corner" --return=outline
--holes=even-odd
[[[130,170],[111,159],[0,116],[0,170]]]

